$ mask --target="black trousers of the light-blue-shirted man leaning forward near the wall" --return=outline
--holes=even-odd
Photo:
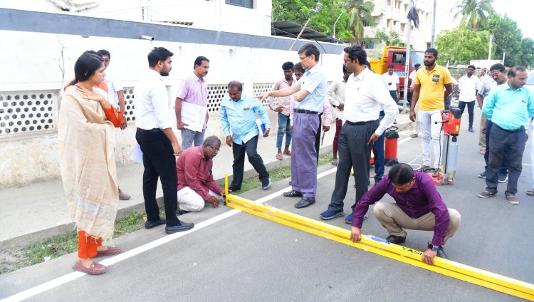
[[[245,152],[248,156],[248,162],[251,163],[254,170],[258,172],[259,179],[263,182],[269,178],[269,172],[265,165],[263,165],[263,160],[261,156],[256,151],[258,148],[258,135],[252,137],[248,142],[245,142],[243,145],[236,144],[232,142],[232,152],[234,152],[234,178],[230,184],[230,188],[234,191],[241,189],[241,182],[243,182],[243,170],[245,168]]]

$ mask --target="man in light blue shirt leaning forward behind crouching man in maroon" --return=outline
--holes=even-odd
[[[230,98],[221,103],[221,127],[226,135],[226,145],[232,147],[234,152],[234,177],[229,190],[239,191],[243,182],[243,170],[245,166],[245,152],[248,162],[254,170],[258,172],[261,180],[261,187],[267,189],[271,187],[269,172],[261,156],[258,155],[258,125],[256,124],[256,113],[260,115],[261,123],[265,125],[263,137],[269,135],[271,123],[267,116],[266,109],[261,103],[248,95],[242,95],[243,85],[236,80],[228,84],[228,94]],[[231,132],[230,132],[231,130]]]

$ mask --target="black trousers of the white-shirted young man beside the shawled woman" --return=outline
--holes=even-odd
[[[159,207],[156,202],[157,179],[160,178],[167,227],[180,224],[176,216],[178,208],[176,157],[174,157],[171,141],[159,129],[147,131],[137,128],[135,139],[143,152],[143,166],[145,166],[145,171],[143,172],[143,198],[145,199],[147,220],[157,222],[160,219]]]

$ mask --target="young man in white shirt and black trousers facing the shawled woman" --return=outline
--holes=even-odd
[[[173,53],[156,47],[148,54],[150,71],[135,85],[135,139],[143,152],[143,197],[147,211],[146,229],[167,224],[167,234],[192,229],[194,224],[180,222],[176,216],[178,207],[176,156],[182,147],[172,132],[169,95],[163,83],[164,76],[172,69]],[[162,182],[165,216],[159,217],[156,202],[158,177]]]

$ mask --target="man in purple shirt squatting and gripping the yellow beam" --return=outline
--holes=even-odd
[[[378,202],[386,193],[393,197],[395,203]],[[352,241],[362,239],[363,216],[370,204],[375,204],[375,217],[389,232],[387,241],[402,244],[407,234],[404,229],[434,229],[434,237],[429,241],[422,260],[426,264],[434,264],[436,255],[446,258],[443,245],[459,229],[461,215],[456,209],[447,209],[434,182],[426,173],[414,172],[407,164],[394,165],[389,175],[366,192],[356,204],[350,232]]]

